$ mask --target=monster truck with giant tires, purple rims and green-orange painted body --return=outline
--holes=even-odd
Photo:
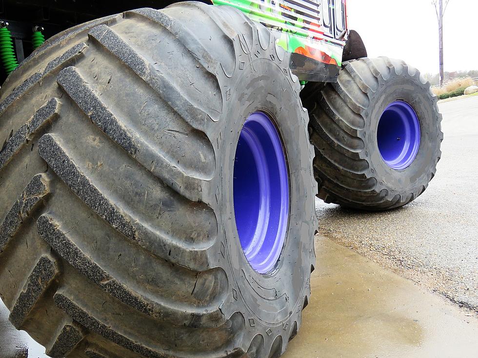
[[[279,357],[315,196],[391,209],[435,174],[429,83],[345,0],[213,2],[2,2],[0,294],[51,357]]]

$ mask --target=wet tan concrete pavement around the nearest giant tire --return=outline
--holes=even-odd
[[[412,282],[316,237],[312,299],[283,358],[478,357],[478,319]],[[0,357],[45,358],[0,301]]]

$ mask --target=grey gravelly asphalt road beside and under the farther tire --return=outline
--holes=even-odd
[[[442,157],[427,190],[383,213],[318,199],[320,232],[478,314],[478,96],[439,109]]]

